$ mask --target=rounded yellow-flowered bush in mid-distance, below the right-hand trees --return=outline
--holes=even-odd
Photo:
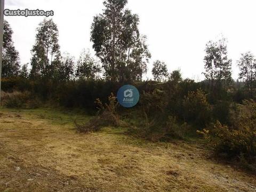
[[[210,105],[201,89],[189,92],[183,99],[182,107],[185,122],[192,122],[199,126],[205,126],[210,122]]]

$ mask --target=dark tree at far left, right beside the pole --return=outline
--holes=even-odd
[[[3,77],[18,76],[20,69],[19,52],[15,50],[12,41],[13,30],[9,23],[4,20],[4,33],[3,33]]]

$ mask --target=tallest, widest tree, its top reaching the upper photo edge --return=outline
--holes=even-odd
[[[145,73],[150,53],[139,34],[139,17],[124,7],[127,0],[103,2],[102,14],[94,17],[91,41],[111,81],[137,81]]]

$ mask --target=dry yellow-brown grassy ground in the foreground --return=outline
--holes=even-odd
[[[78,134],[51,109],[0,108],[0,191],[256,191],[255,175],[202,145],[152,143],[106,127]]]

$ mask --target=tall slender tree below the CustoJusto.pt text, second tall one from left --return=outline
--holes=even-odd
[[[31,77],[52,78],[55,67],[60,63],[59,31],[52,19],[39,23],[36,42],[31,53]]]

